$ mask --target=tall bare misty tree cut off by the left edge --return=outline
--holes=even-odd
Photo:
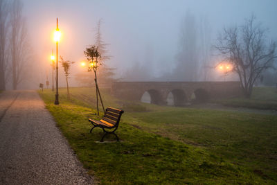
[[[6,89],[8,1],[0,0],[0,90]]]

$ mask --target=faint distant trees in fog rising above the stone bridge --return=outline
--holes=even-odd
[[[147,48],[147,47],[146,47]],[[175,58],[162,59],[155,66],[153,50],[145,51],[145,64],[135,61],[134,65],[123,75],[127,81],[199,81],[209,80],[208,71],[211,69],[211,26],[206,17],[197,19],[190,11],[181,20],[179,28],[179,43]],[[161,75],[154,77],[154,72],[161,64],[170,64]]]

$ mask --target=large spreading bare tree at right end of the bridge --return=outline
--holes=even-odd
[[[268,42],[266,29],[255,20],[252,16],[240,27],[224,28],[215,45],[224,60],[233,64],[247,98],[251,97],[253,85],[262,71],[272,67],[277,57],[276,42]]]

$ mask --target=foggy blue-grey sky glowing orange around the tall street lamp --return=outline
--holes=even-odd
[[[87,73],[80,62],[85,59],[84,49],[96,42],[100,19],[102,40],[112,56],[105,64],[115,68],[114,78],[124,81],[238,80],[235,74],[224,79],[213,68],[220,58],[211,46],[224,26],[242,24],[251,15],[269,28],[271,39],[277,39],[275,0],[22,2],[32,57],[27,72],[31,77],[19,85],[21,89],[37,88],[46,78],[51,81],[57,17],[62,32],[59,55],[75,62],[71,86],[80,85],[76,74]],[[59,74],[64,87],[62,67]]]

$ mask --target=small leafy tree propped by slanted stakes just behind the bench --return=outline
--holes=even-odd
[[[98,52],[98,47],[97,46],[91,46],[91,47],[87,48],[84,51],[84,55],[86,56],[87,60],[89,61],[89,72],[90,71],[94,72],[94,77],[95,77],[94,82],[95,82],[95,85],[96,85],[96,105],[97,105],[97,113],[99,115],[98,95],[99,95],[99,98],[100,98],[100,101],[101,101],[103,112],[105,112],[104,105],[103,105],[102,98],[101,98],[101,94],[100,94],[99,87],[98,87],[98,83],[97,83],[97,70],[101,65],[98,60],[100,60],[101,55]]]

